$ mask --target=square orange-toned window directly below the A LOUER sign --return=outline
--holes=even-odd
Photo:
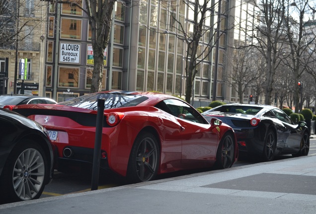
[[[79,68],[60,67],[59,68],[59,87],[79,87]]]

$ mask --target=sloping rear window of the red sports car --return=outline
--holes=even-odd
[[[95,93],[61,102],[59,105],[97,110],[98,99],[105,100],[104,109],[110,109],[137,106],[147,100],[148,97],[123,93]]]

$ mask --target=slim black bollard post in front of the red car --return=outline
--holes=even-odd
[[[97,114],[96,114],[96,125],[95,125],[95,142],[94,142],[94,151],[93,151],[91,190],[98,189],[104,103],[105,103],[104,100],[98,99],[98,103],[97,103],[98,109],[97,109]]]

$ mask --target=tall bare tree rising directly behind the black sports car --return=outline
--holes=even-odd
[[[270,105],[272,99],[273,83],[275,70],[280,64],[280,60],[277,60],[280,53],[280,49],[283,46],[283,38],[285,35],[284,29],[284,8],[282,4],[283,0],[259,0],[258,4],[254,1],[257,7],[257,13],[253,19],[252,29],[243,29],[244,34],[251,44],[245,44],[245,46],[254,47],[262,54],[266,63],[265,71],[265,104]],[[245,11],[247,12],[247,11]],[[252,15],[252,14],[249,14]]]

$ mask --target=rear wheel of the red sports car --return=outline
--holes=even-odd
[[[131,150],[127,168],[129,183],[153,180],[159,168],[159,147],[156,137],[151,133],[141,133]]]

